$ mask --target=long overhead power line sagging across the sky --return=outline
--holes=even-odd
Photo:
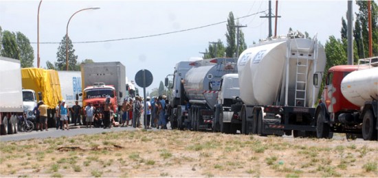
[[[247,18],[249,16],[254,16],[256,14],[265,13],[266,11],[267,10],[256,12],[254,14],[249,14],[249,15],[246,15],[246,16],[241,16],[241,17],[238,17],[238,18],[235,18],[235,19],[237,20],[237,19],[240,19],[240,18]],[[162,34],[153,34],[153,35],[147,35],[147,36],[137,36],[137,37],[131,37],[131,38],[118,38],[118,39],[112,39],[112,40],[95,40],[95,41],[72,42],[72,44],[96,43],[96,42],[113,42],[113,41],[122,41],[122,40],[135,40],[135,39],[148,38],[148,37],[154,37],[154,36],[164,36],[164,35],[168,35],[168,34],[176,34],[176,33],[179,33],[179,32],[190,31],[190,30],[194,30],[194,29],[201,29],[201,28],[205,28],[205,27],[211,27],[211,26],[214,26],[214,25],[219,25],[221,23],[227,23],[227,21],[221,21],[219,23],[212,23],[210,25],[203,25],[203,26],[200,26],[200,27],[193,27],[193,28],[189,28],[189,29],[181,29],[181,30],[177,30],[177,31],[170,31],[170,32],[162,33]],[[30,42],[30,43],[31,44],[36,44],[36,42]],[[39,42],[39,44],[60,44],[60,42]]]

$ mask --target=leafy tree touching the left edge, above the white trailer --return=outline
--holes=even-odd
[[[14,34],[14,32],[5,30],[1,35],[1,55],[3,57],[20,60],[20,51],[17,47],[16,34]]]

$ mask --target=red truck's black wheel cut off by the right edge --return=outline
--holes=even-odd
[[[362,121],[362,138],[364,140],[375,140],[377,138],[377,131],[375,131],[375,120],[373,112],[367,110]]]

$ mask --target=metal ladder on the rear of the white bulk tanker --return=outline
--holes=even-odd
[[[315,40],[316,41],[316,40]],[[307,102],[307,77],[309,74],[309,60],[314,60],[314,54],[318,53],[318,45],[314,45],[314,53],[311,55],[309,48],[298,48],[296,42],[296,93],[295,106],[305,107]],[[302,64],[304,60],[304,64]],[[315,67],[315,65],[314,65]],[[302,86],[302,87],[300,87]]]

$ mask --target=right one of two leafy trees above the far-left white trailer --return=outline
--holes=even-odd
[[[34,50],[30,45],[29,38],[27,38],[20,31],[16,32],[16,43],[19,48],[19,55],[21,60],[21,67],[33,67],[34,62]]]

